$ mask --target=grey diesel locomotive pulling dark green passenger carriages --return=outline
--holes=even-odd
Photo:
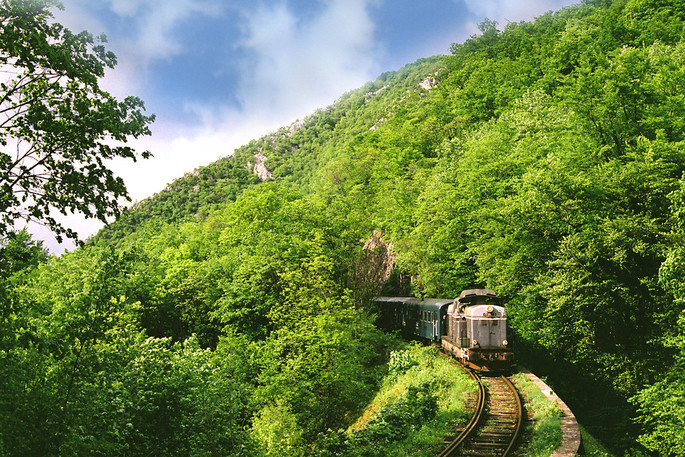
[[[408,338],[440,345],[464,366],[480,372],[514,367],[507,339],[507,311],[490,289],[464,290],[456,299],[376,297],[379,324]]]

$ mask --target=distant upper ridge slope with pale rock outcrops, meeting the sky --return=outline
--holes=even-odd
[[[142,221],[172,223],[206,217],[235,201],[245,188],[266,180],[311,190],[317,170],[339,154],[339,145],[377,129],[393,117],[393,110],[415,109],[417,100],[438,84],[437,75],[445,65],[444,57],[433,57],[385,73],[344,94],[333,105],[186,173],[163,191],[133,205],[95,239],[119,239],[137,230]]]

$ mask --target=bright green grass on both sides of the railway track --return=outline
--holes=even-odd
[[[525,375],[513,378],[532,419],[518,454],[547,457],[561,444],[563,413]],[[406,344],[392,354],[381,388],[357,421],[329,435],[314,455],[434,457],[471,418],[468,401],[477,390],[476,382],[434,347]]]

